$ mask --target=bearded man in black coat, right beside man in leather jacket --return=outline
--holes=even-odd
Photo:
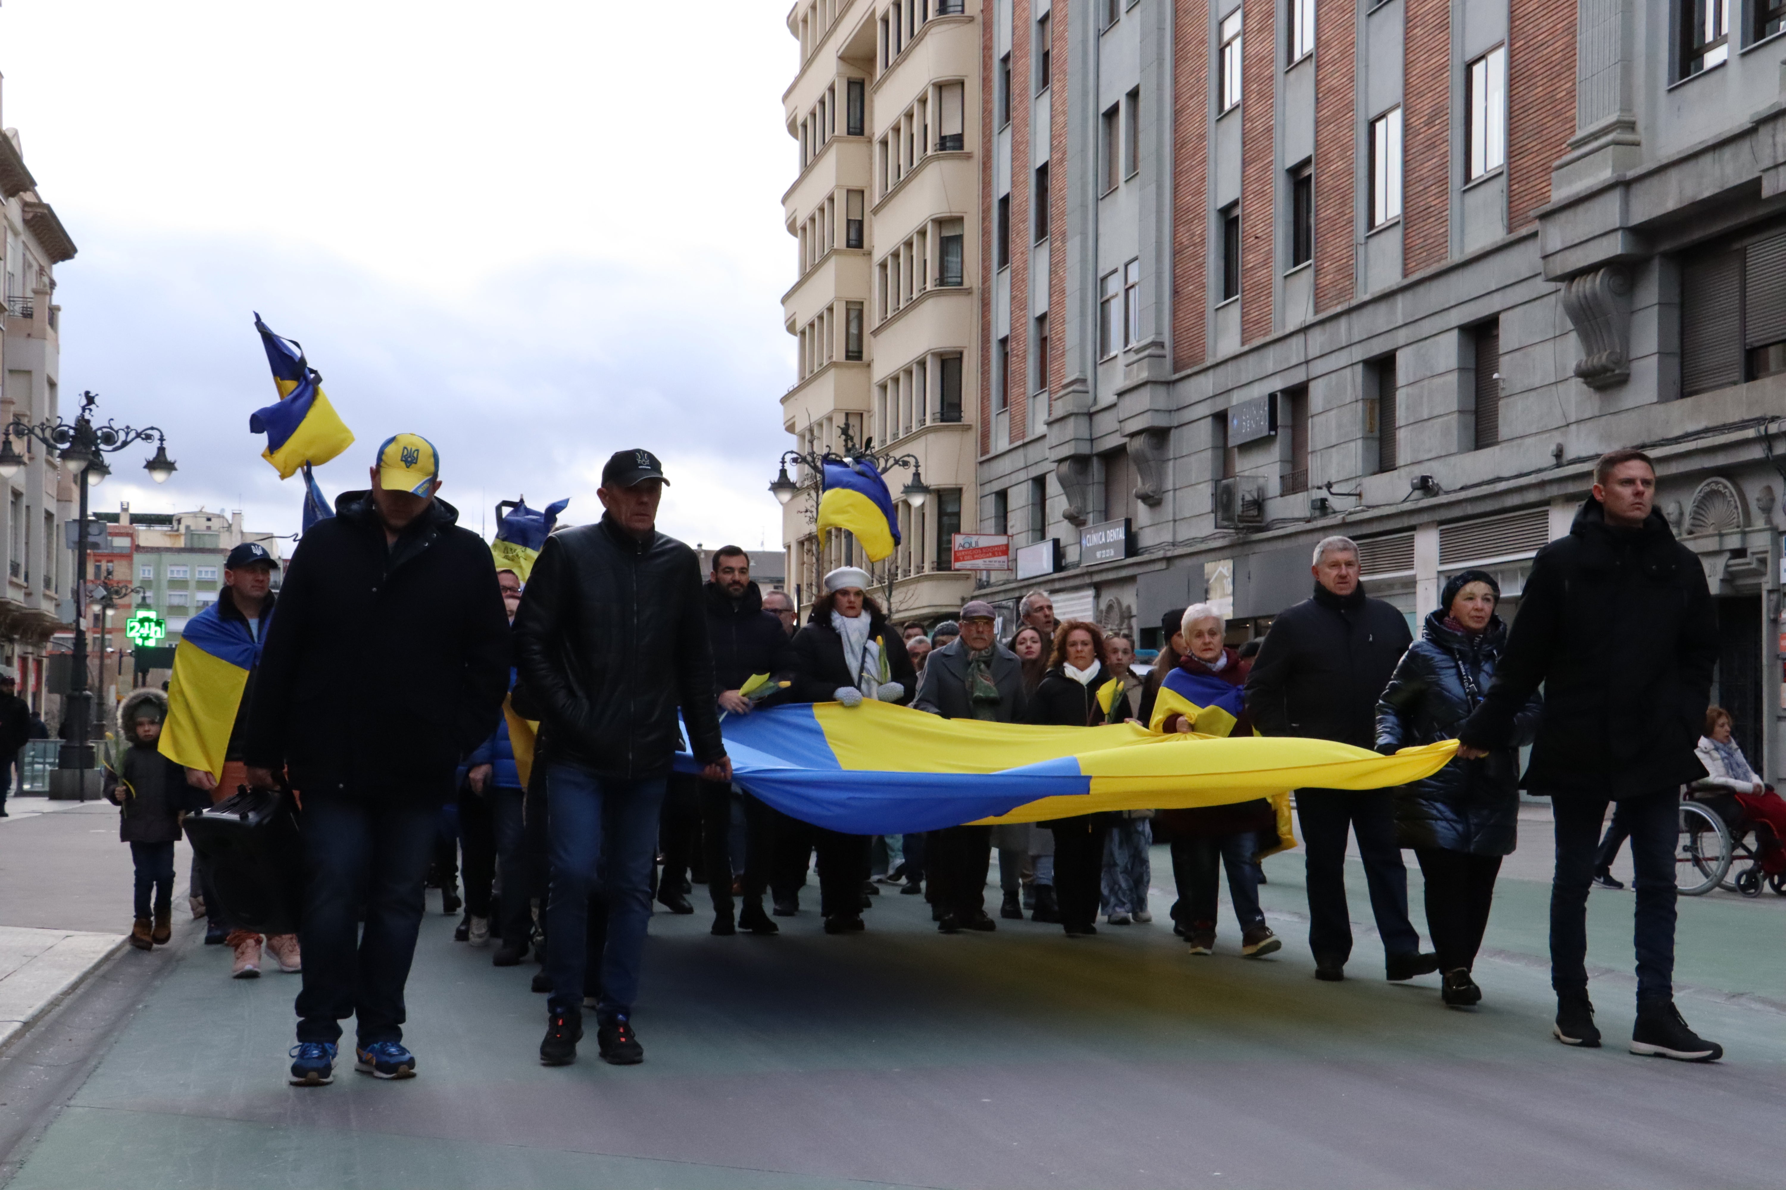
[[[752,703],[741,689],[757,674],[793,669],[793,649],[780,617],[763,610],[763,592],[750,582],[750,555],[738,546],[722,546],[713,555],[713,576],[705,589],[707,635],[713,639],[713,685],[720,710],[748,715]],[[684,780],[680,774],[672,781]],[[713,897],[713,933],[732,935],[738,926],[750,933],[777,933],[775,921],[763,912],[763,892],[770,881],[775,840],[786,833],[789,819],[750,794],[734,792],[729,781],[691,780],[700,799],[702,847],[707,865],[707,892]],[[745,855],[734,856],[732,806],[745,815]],[[732,874],[743,883],[743,908],[732,921]]]

